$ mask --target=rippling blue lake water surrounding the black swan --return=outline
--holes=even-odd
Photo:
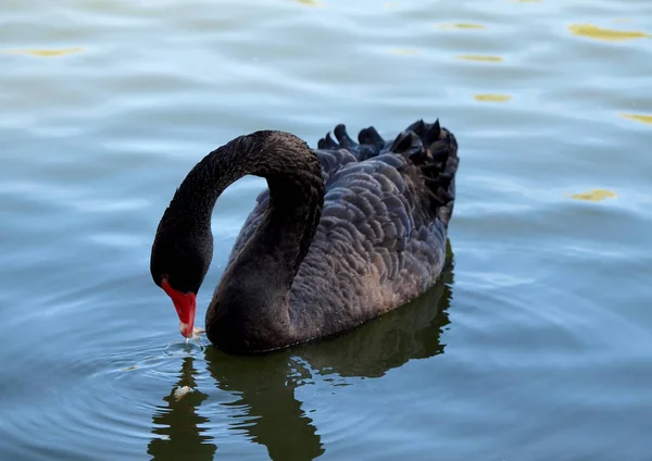
[[[0,459],[652,460],[649,0],[0,13]],[[421,117],[460,144],[435,288],[277,353],[186,345],[149,257],[196,162]],[[264,187],[217,202],[199,325]]]

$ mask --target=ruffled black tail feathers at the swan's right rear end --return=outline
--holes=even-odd
[[[448,225],[455,202],[455,174],[460,160],[455,136],[439,124],[419,120],[393,140],[389,150],[418,166],[430,207]]]

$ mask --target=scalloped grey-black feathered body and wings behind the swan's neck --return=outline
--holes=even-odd
[[[344,125],[319,139],[324,207],[289,294],[296,341],[331,335],[409,302],[435,284],[446,259],[457,142],[439,121],[386,141],[374,127],[355,142]],[[269,203],[256,199],[238,256]]]

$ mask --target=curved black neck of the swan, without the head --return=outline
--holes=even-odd
[[[256,132],[208,154],[171,203],[210,228],[220,195],[246,175],[265,177],[269,201],[258,228],[233,254],[206,312],[206,335],[223,348],[255,350],[290,335],[289,292],[315,234],[324,180],[315,153],[283,132]]]

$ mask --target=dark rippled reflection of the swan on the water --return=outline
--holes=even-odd
[[[325,447],[296,390],[319,376],[326,382],[351,384],[355,378],[383,376],[410,360],[442,353],[440,336],[449,324],[447,309],[452,298],[451,266],[417,300],[337,339],[252,357],[229,356],[209,347],[209,374],[218,391],[236,399],[220,404],[225,411],[210,415],[212,425],[224,419],[221,423],[230,431],[224,437],[244,435],[265,448],[272,460],[318,458]],[[201,426],[209,420],[198,415],[197,408],[206,395],[195,386],[192,361],[184,360],[180,379],[164,398],[170,411],[153,419],[160,427],[152,431],[158,437],[151,440],[148,452],[155,460],[210,460],[215,454],[220,459],[215,440],[202,435]],[[179,386],[195,390],[177,401],[174,390]]]

